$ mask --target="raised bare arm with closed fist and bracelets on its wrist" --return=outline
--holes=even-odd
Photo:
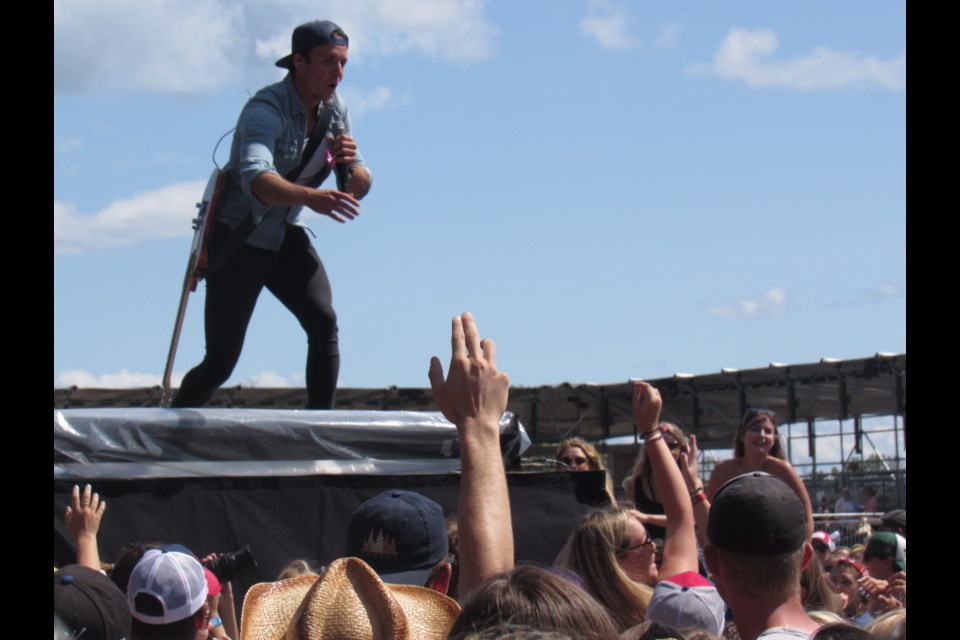
[[[697,539],[690,495],[680,475],[680,468],[658,429],[662,404],[660,392],[653,386],[646,382],[634,383],[633,416],[640,433],[649,434],[643,441],[643,447],[653,468],[653,479],[663,501],[663,510],[667,513],[660,574],[670,578],[684,571],[697,571]]]

